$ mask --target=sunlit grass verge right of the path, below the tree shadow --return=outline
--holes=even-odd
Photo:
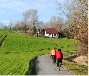
[[[63,60],[63,65],[65,65],[75,75],[88,75],[88,66],[79,65],[67,60]]]

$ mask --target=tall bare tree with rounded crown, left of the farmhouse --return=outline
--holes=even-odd
[[[27,10],[23,13],[23,17],[24,17],[23,26],[25,29],[25,33],[26,33],[26,28],[28,27],[28,24],[32,25],[33,31],[35,31],[34,27],[36,28],[38,23],[37,10],[36,9]]]

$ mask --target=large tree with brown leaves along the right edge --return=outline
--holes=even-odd
[[[71,0],[67,5],[67,32],[70,38],[80,41],[80,55],[88,54],[88,1]]]

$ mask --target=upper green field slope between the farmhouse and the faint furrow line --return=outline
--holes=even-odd
[[[72,39],[52,39],[31,37],[24,34],[10,34],[3,42],[1,52],[22,52],[22,51],[49,51],[53,47],[61,48],[63,51],[75,51]]]

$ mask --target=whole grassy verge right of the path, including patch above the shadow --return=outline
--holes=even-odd
[[[88,66],[81,65],[81,64],[70,61],[70,60],[73,60],[73,58],[70,58],[70,60],[69,60],[69,57],[74,56],[74,55],[77,55],[77,52],[72,52],[72,55],[70,52],[69,53],[65,52],[64,59],[63,59],[63,65],[65,65],[73,74],[88,75]]]

